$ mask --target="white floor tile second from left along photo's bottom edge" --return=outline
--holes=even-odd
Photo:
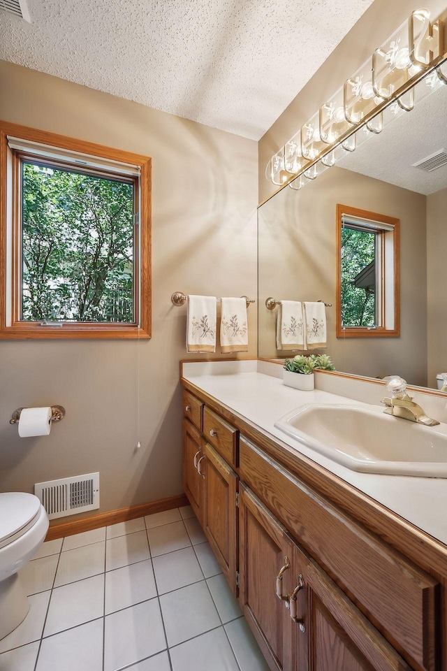
[[[44,638],[36,671],[101,671],[103,619]]]

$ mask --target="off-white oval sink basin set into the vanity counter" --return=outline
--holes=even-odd
[[[445,424],[423,426],[375,406],[313,403],[274,426],[351,470],[447,477]]]

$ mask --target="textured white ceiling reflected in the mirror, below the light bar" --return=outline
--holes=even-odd
[[[425,196],[434,194],[447,186],[447,166],[425,172],[413,164],[438,150],[447,151],[446,119],[447,86],[442,86],[345,156],[339,166]]]

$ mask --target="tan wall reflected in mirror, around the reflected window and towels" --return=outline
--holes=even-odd
[[[400,338],[335,337],[337,203],[400,219]],[[323,300],[332,303],[326,309],[326,352],[337,370],[370,377],[402,375],[411,384],[425,386],[425,196],[334,167],[300,192],[284,189],[258,212],[259,356],[286,356],[275,345],[277,309],[267,310],[265,298]]]

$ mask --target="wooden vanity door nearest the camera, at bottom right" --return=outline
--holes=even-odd
[[[295,547],[300,589],[291,600],[297,642],[307,637],[309,671],[411,671],[411,667],[318,566]],[[293,596],[293,593],[292,593]],[[298,666],[300,670],[300,666]]]

